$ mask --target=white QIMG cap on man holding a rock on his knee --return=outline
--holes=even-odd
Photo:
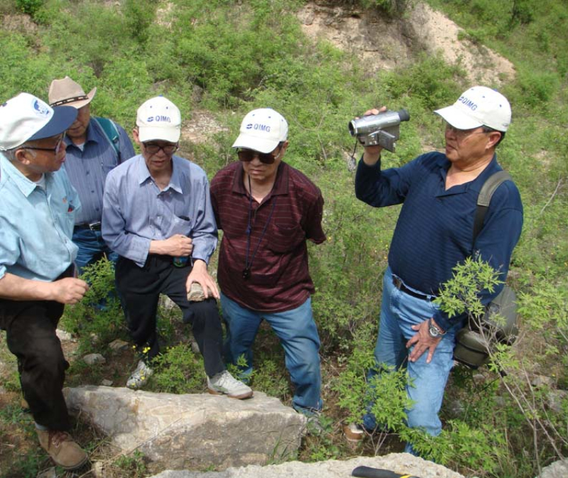
[[[138,108],[136,125],[142,143],[153,139],[177,143],[182,131],[182,115],[175,104],[160,95]]]

